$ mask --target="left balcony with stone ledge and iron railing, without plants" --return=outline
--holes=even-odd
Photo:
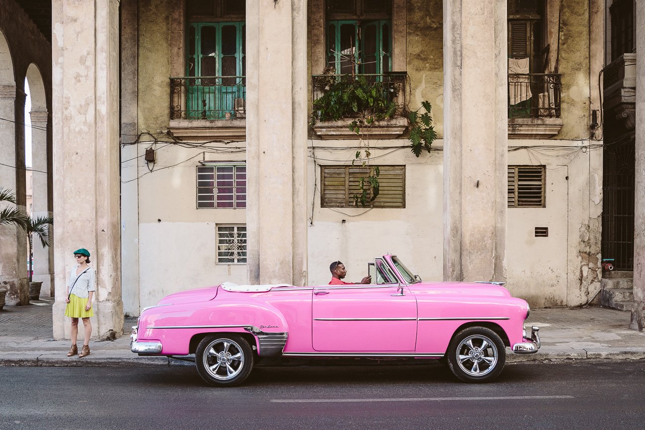
[[[246,139],[245,77],[171,77],[169,130],[180,140]]]

